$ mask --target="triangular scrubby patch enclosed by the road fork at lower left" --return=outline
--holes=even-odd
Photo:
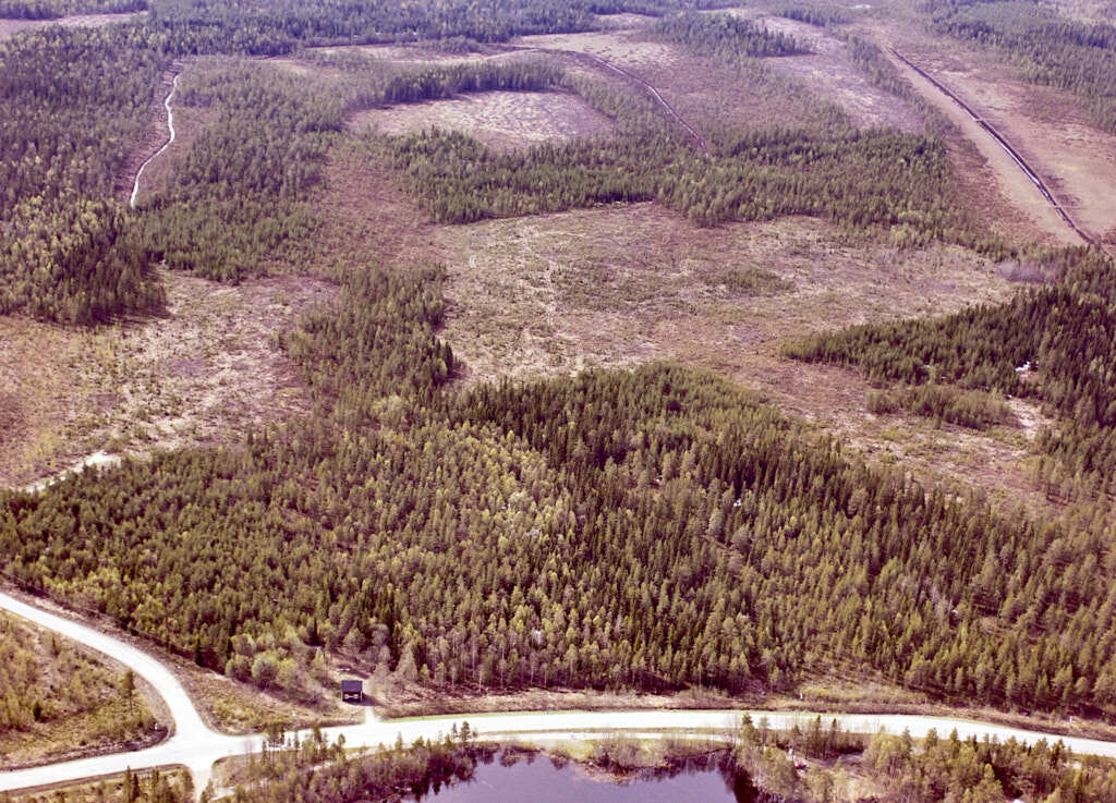
[[[154,719],[131,673],[117,675],[69,641],[0,616],[0,753],[4,763],[118,745]]]

